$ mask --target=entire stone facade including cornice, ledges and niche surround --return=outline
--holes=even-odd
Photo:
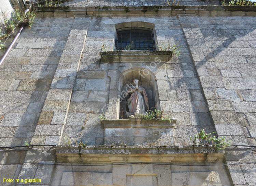
[[[217,4],[73,0],[39,8],[0,66],[0,140],[45,146],[1,148],[0,185],[256,185],[248,147],[256,146],[255,7]],[[152,27],[158,44],[177,42],[181,55],[114,52],[124,27]],[[118,96],[134,77],[171,123],[119,119]],[[202,129],[237,147],[193,146],[189,136]]]

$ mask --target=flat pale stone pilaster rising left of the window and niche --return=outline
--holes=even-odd
[[[59,145],[90,18],[75,18],[31,144]]]

